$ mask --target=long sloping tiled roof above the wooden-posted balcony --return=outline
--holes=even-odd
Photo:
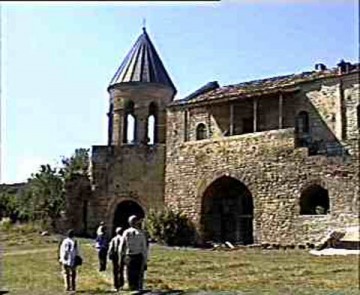
[[[348,73],[359,72],[359,64],[349,64]],[[196,90],[187,97],[173,101],[170,105],[187,105],[193,103],[221,100],[231,97],[245,98],[251,96],[257,96],[266,93],[272,93],[279,90],[294,89],[300,83],[326,78],[334,77],[338,75],[338,68],[336,69],[324,69],[322,71],[303,72],[300,74],[292,74],[286,76],[278,76],[260,80],[253,80],[249,82],[243,82],[234,85],[228,85],[223,87],[213,87],[209,90],[200,91],[204,87]],[[212,82],[213,83],[213,82]],[[199,92],[199,93],[198,93]]]

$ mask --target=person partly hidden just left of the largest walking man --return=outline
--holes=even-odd
[[[122,243],[122,228],[117,227],[115,230],[115,237],[110,241],[108,256],[113,264],[113,279],[114,279],[114,288],[116,291],[119,291],[120,288],[124,285],[124,263],[123,255],[119,252],[120,245]]]

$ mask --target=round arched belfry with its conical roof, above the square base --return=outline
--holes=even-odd
[[[165,143],[166,105],[176,89],[145,28],[108,87],[108,144]]]

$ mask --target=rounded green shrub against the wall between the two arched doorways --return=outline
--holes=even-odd
[[[195,228],[182,212],[169,208],[151,210],[145,219],[145,228],[150,237],[168,246],[190,246],[194,244]]]

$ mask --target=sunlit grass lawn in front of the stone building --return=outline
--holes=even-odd
[[[57,262],[59,237],[34,233],[20,236],[9,231],[0,234],[2,288],[9,294],[64,294]],[[110,294],[110,267],[105,273],[97,271],[91,240],[80,239],[80,247],[84,265],[79,268],[77,293]],[[163,293],[360,294],[359,256],[316,257],[305,250],[210,251],[153,245],[146,288]]]

